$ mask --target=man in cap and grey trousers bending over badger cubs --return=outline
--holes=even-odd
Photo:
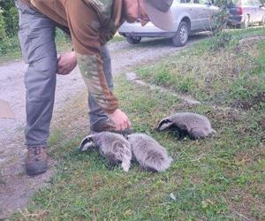
[[[170,5],[173,0],[18,0],[19,42],[28,64],[27,88],[28,175],[47,171],[45,148],[49,136],[56,75],[68,74],[78,64],[87,85],[90,130],[123,132],[131,123],[118,109],[112,94],[110,54],[105,46],[117,28],[127,20],[145,25],[173,26]],[[69,31],[72,52],[57,59],[55,29]],[[65,86],[67,87],[67,86]],[[67,113],[66,113],[67,114]]]

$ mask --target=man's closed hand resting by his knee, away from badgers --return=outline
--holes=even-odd
[[[76,65],[77,60],[74,51],[61,54],[57,59],[57,73],[62,75],[69,74]]]

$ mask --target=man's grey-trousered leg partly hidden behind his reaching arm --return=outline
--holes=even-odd
[[[101,50],[102,67],[105,73],[105,78],[110,90],[113,90],[113,78],[111,73],[111,59],[110,51],[107,46],[102,46]],[[104,124],[108,120],[108,114],[105,113],[102,108],[95,102],[95,98],[92,95],[88,95],[90,128],[94,131],[101,130],[101,128],[95,128]]]

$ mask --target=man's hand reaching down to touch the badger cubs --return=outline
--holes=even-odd
[[[131,126],[129,118],[122,110],[115,110],[113,113],[110,114],[110,118],[113,121],[117,131],[124,131],[125,129]]]

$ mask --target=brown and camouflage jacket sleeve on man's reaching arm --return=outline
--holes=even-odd
[[[95,97],[102,110],[112,113],[118,108],[118,102],[107,85],[102,69],[101,25],[97,14],[83,1],[67,1],[65,6],[72,46],[88,93]]]

